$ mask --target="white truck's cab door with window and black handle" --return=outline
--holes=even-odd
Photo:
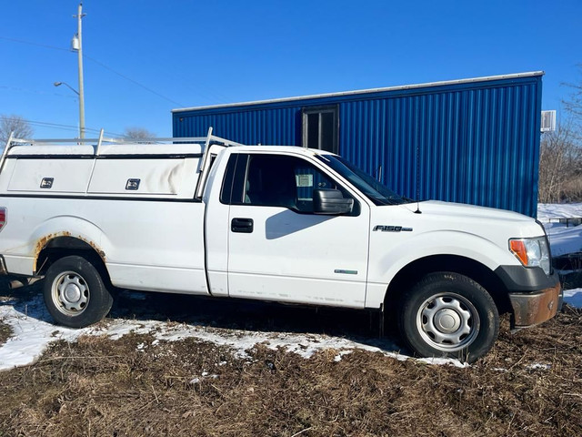
[[[238,154],[229,193],[228,294],[363,308],[369,207],[305,158]],[[354,198],[345,215],[314,213],[313,191]]]

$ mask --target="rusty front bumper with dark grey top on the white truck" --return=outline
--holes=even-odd
[[[519,330],[553,318],[562,308],[564,291],[559,276],[542,269],[502,266],[496,270],[509,291],[513,309],[511,328]]]

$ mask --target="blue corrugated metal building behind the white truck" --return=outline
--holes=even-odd
[[[543,74],[175,109],[174,137],[322,148],[408,198],[536,217]]]

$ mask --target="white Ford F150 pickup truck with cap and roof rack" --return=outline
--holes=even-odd
[[[0,158],[0,269],[44,277],[65,326],[102,320],[115,288],[273,300],[380,310],[416,355],[474,361],[499,314],[520,329],[561,305],[544,229],[517,213],[402,198],[321,150],[77,141]]]

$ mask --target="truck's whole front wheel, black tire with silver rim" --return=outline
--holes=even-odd
[[[402,339],[421,357],[477,361],[499,333],[499,313],[487,290],[453,272],[430,273],[407,290],[397,320]]]

